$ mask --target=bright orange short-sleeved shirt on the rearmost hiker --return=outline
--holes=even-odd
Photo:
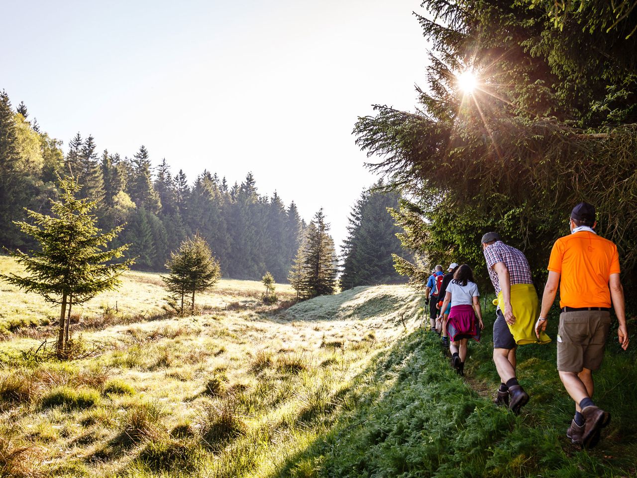
[[[590,231],[555,241],[548,270],[559,272],[560,307],[610,307],[608,280],[619,273],[617,246]]]

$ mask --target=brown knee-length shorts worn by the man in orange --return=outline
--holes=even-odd
[[[598,370],[609,329],[610,312],[606,310],[562,312],[557,330],[557,370]]]

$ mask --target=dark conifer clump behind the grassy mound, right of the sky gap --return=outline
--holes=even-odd
[[[403,282],[392,254],[403,253],[400,232],[387,210],[396,208],[399,194],[385,190],[379,180],[364,191],[350,213],[348,236],[343,243],[341,289]]]

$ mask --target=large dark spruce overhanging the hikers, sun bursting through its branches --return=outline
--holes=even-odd
[[[479,268],[480,236],[496,230],[541,283],[571,208],[587,201],[625,275],[636,277],[637,62],[624,52],[637,40],[602,31],[606,3],[583,2],[577,13],[566,4],[572,15],[560,31],[532,0],[426,1],[419,21],[434,49],[419,113],[376,106],[357,122],[358,145],[383,158],[372,170],[410,197],[394,219],[425,270],[448,258]],[[582,34],[585,24],[592,33]],[[478,76],[470,93],[456,80],[466,69]],[[425,275],[397,265],[419,273],[417,282]]]

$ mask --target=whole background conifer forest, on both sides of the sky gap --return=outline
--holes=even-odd
[[[276,191],[271,196],[259,194],[252,173],[231,185],[225,177],[204,170],[191,184],[183,170],[173,173],[166,159],[153,168],[144,146],[132,157],[121,157],[106,149],[100,152],[90,134],[76,134],[64,154],[62,141],[41,131],[24,103],[14,110],[3,91],[1,246],[9,250],[36,246],[13,221],[25,219],[25,208],[50,214],[50,199],[60,194],[58,175],[71,174],[82,186],[78,198],[96,201],[93,214],[99,228],[125,225],[113,247],[130,244],[126,256],[135,258],[134,268],[165,270],[170,253],[197,234],[210,245],[225,277],[258,280],[269,272],[276,282],[301,284],[299,297],[331,293],[336,287],[338,257],[322,211],[318,222],[306,224],[294,201],[286,205]],[[343,247],[342,287],[401,280],[391,259],[401,250],[399,229],[387,212],[397,207],[399,195],[381,191],[382,187],[378,182],[362,192],[352,208]],[[327,280],[327,286],[308,279],[308,271],[316,269],[311,260],[318,261],[308,254],[318,250],[325,270],[313,274]]]

